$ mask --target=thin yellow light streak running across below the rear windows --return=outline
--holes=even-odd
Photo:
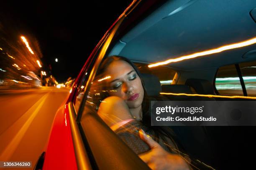
[[[223,95],[200,95],[200,94],[186,94],[186,93],[171,93],[171,92],[160,92],[161,95],[186,95],[186,96],[200,96],[200,97],[220,97],[220,98],[241,98],[241,99],[256,99],[256,97],[248,96],[223,96]]]

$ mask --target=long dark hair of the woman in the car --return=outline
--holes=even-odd
[[[110,63],[112,63],[113,61],[120,61],[120,60],[128,62],[128,64],[130,64],[133,67],[133,69],[136,71],[138,76],[141,78],[141,73],[139,72],[138,68],[133,64],[133,62],[131,62],[129,59],[127,59],[125,57],[121,57],[121,56],[110,56],[110,57],[105,58],[105,60],[103,60],[103,62],[100,65],[99,73],[104,73],[106,71],[108,65],[110,65]],[[169,138],[170,140],[172,140],[174,145],[176,145],[176,142],[174,141],[174,139],[176,137],[171,128],[164,127],[164,126],[151,126],[150,102],[151,102],[151,100],[156,100],[156,99],[154,99],[153,97],[148,97],[142,78],[141,78],[141,82],[142,82],[142,86],[144,89],[143,102],[141,104],[141,106],[142,106],[141,123],[146,127],[145,131],[152,134],[153,138],[154,138],[154,140],[156,140],[156,142],[159,142],[160,138],[164,142],[167,142],[166,138]],[[167,148],[169,148],[169,147],[167,147]]]

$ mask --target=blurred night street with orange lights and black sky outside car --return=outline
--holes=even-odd
[[[0,2],[0,161],[35,165],[74,79],[130,3]]]

